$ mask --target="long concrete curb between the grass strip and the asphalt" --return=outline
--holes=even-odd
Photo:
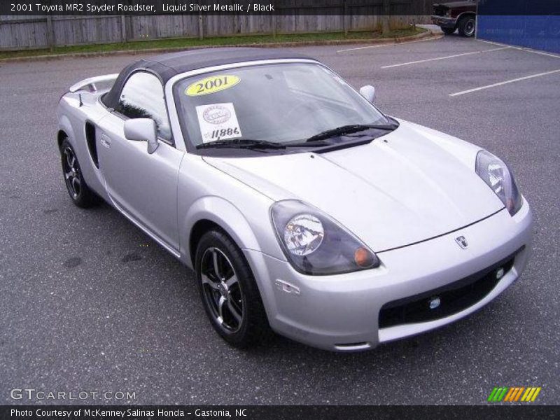
[[[34,61],[50,61],[54,59],[66,58],[89,58],[89,57],[106,57],[111,55],[139,55],[151,54],[153,52],[175,52],[185,50],[200,50],[202,48],[228,48],[228,47],[253,47],[253,48],[293,48],[314,45],[377,45],[377,44],[397,44],[417,41],[422,39],[430,41],[439,39],[443,35],[433,31],[422,32],[412,36],[402,36],[400,38],[376,38],[376,39],[333,39],[331,41],[300,41],[300,42],[274,42],[274,43],[243,43],[243,44],[227,44],[227,45],[200,45],[194,47],[173,47],[173,48],[146,48],[141,50],[115,50],[115,51],[99,51],[99,52],[73,52],[69,54],[51,54],[51,55],[33,55],[29,57],[10,57],[0,58],[0,63],[6,62],[34,62]]]

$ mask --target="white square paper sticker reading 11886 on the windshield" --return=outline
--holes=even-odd
[[[241,129],[231,102],[196,107],[202,142],[241,137]]]

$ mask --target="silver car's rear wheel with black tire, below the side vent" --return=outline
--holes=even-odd
[[[81,209],[99,204],[99,197],[85,183],[78,157],[68,139],[64,139],[60,146],[60,161],[66,190],[68,190],[72,202]]]

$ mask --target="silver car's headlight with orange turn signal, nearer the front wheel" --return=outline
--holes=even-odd
[[[296,200],[272,205],[272,224],[282,250],[304,274],[340,274],[379,267],[360,239],[323,212]]]

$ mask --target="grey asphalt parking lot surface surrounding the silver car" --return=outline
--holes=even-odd
[[[484,404],[494,386],[542,386],[535,403],[558,402],[560,56],[458,36],[298,50],[356,87],[372,83],[386,113],[510,164],[535,216],[521,280],[469,318],[366,353],[282,338],[231,349],[192,272],[108,205],[73,207],[64,188],[59,96],[141,55],[4,62],[0,401],[27,402],[10,398],[27,387],[135,391],[140,404]]]

